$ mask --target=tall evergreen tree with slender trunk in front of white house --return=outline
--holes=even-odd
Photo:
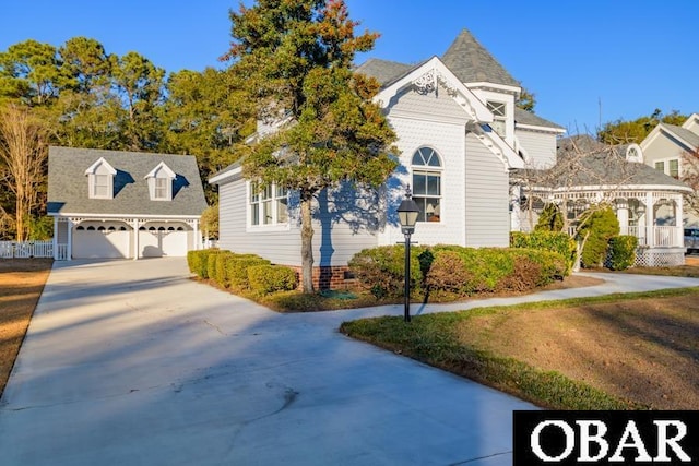
[[[342,0],[259,0],[230,20],[232,71],[258,118],[279,123],[249,146],[244,174],[298,193],[301,283],[311,292],[315,196],[344,181],[378,186],[396,166],[395,134],[371,101],[378,83],[352,70],[378,36],[355,36]]]

